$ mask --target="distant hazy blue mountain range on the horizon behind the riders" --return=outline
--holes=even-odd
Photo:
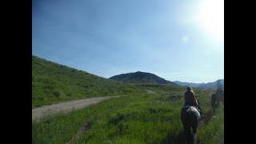
[[[191,87],[198,87],[202,89],[210,89],[210,88],[217,88],[217,82],[220,81],[222,85],[224,85],[224,79],[218,79],[215,82],[208,82],[208,83],[193,83],[193,82],[179,82],[174,81],[179,86],[191,86]]]

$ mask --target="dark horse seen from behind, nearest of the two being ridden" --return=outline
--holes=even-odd
[[[199,102],[198,102],[199,105]],[[198,129],[198,122],[202,119],[202,112],[195,106],[183,106],[181,110],[181,119],[188,144],[194,144],[195,134]],[[192,129],[192,131],[191,131]]]

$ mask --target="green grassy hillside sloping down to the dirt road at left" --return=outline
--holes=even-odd
[[[32,56],[32,107],[78,98],[130,94],[135,86],[114,82]]]

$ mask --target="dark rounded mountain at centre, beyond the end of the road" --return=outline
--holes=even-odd
[[[155,74],[150,74],[141,71],[137,71],[135,73],[115,75],[110,79],[125,83],[175,84],[174,82],[167,81],[164,78],[160,78]]]

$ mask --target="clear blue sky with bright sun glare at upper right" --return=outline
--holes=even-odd
[[[35,0],[32,53],[104,78],[145,71],[170,81],[213,82],[224,78],[224,39],[216,33],[222,21],[219,5],[202,3]]]

